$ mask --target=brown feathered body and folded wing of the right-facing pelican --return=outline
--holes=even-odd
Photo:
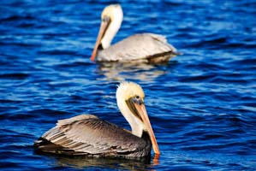
[[[78,115],[58,121],[57,126],[46,132],[41,139],[50,144],[36,142],[39,150],[63,154],[73,151],[74,155],[122,156],[124,153],[138,153],[135,154],[138,156],[142,155],[141,150],[148,148],[144,139],[94,115]],[[53,144],[58,146],[57,151],[52,151]]]

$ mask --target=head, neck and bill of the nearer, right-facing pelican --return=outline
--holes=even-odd
[[[144,104],[144,91],[133,82],[122,82],[116,90],[116,101],[122,115],[132,127],[132,133],[141,138],[146,131],[152,141],[155,154],[160,154]]]

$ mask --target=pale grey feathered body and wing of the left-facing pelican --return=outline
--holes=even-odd
[[[108,49],[98,51],[99,62],[149,60],[155,56],[176,53],[176,48],[167,43],[167,39],[158,34],[134,34],[111,45]]]

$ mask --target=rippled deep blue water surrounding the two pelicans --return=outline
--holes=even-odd
[[[112,1],[1,1],[1,170],[255,170],[256,1],[118,1],[114,42],[165,35],[182,56],[164,65],[99,65],[89,57]],[[128,127],[116,85],[132,80],[162,152],[158,162],[40,155],[33,141],[82,113]]]

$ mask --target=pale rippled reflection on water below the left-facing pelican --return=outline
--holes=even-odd
[[[170,63],[164,64],[147,64],[147,63],[120,63],[104,62],[98,65],[98,73],[103,74],[106,80],[146,80],[152,81],[159,76],[166,74],[166,67]]]

